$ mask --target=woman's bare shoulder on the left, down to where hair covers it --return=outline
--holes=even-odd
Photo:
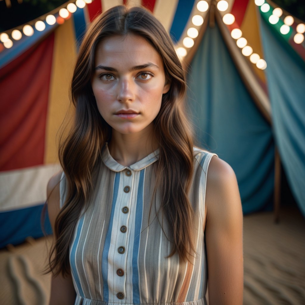
[[[54,229],[55,220],[60,210],[59,183],[61,175],[62,171],[52,176],[47,186],[48,215],[52,225],[52,229]]]

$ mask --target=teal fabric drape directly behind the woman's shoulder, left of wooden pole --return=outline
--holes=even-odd
[[[188,104],[199,145],[235,171],[244,213],[271,207],[274,143],[218,27],[207,28],[188,76]]]

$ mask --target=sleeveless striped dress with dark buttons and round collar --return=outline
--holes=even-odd
[[[158,150],[125,167],[104,146],[88,209],[77,221],[70,245],[75,304],[206,304],[203,223],[206,173],[212,156],[194,148],[189,199],[195,211],[196,255],[190,264],[179,260],[177,253],[166,258],[171,238],[162,213],[157,215],[158,192],[150,210]],[[62,179],[61,205],[64,196]]]

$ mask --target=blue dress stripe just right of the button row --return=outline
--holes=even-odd
[[[143,188],[144,188],[144,172],[140,172],[140,181],[138,185],[137,206],[135,213],[135,239],[132,253],[132,287],[133,287],[133,303],[140,304],[139,291],[139,272],[138,272],[138,255],[140,246],[140,233],[142,227],[142,213],[143,213]]]

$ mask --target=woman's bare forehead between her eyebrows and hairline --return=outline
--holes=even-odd
[[[103,39],[95,51],[95,65],[103,64],[142,65],[147,62],[163,65],[163,60],[156,49],[143,37],[135,34],[112,36]]]

